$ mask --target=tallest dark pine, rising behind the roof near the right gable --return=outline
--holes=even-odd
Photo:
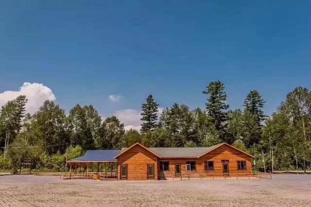
[[[224,89],[224,84],[220,80],[217,80],[210,82],[206,86],[206,90],[203,91],[203,94],[209,95],[205,104],[207,115],[212,118],[215,128],[218,131],[223,129],[222,123],[227,120],[224,110],[229,108],[229,105],[225,103],[227,94]]]

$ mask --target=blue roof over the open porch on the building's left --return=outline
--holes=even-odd
[[[83,156],[70,159],[67,162],[117,162],[118,159],[113,157],[119,153],[120,150],[87,150]]]

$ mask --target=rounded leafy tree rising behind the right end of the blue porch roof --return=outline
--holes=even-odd
[[[108,117],[101,126],[99,147],[101,149],[116,149],[124,132],[124,124],[120,123],[116,116]]]

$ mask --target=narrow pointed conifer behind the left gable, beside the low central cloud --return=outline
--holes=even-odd
[[[147,99],[146,103],[141,104],[142,113],[140,114],[142,118],[140,119],[142,122],[141,124],[141,133],[145,133],[148,130],[153,131],[156,127],[156,120],[157,120],[157,112],[159,104],[157,104],[150,94]]]

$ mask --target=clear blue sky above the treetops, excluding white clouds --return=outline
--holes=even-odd
[[[220,79],[230,108],[257,89],[271,114],[311,87],[310,10],[308,0],[1,0],[0,93],[41,83],[67,111],[93,104],[110,116],[150,93],[161,107],[204,107]]]

